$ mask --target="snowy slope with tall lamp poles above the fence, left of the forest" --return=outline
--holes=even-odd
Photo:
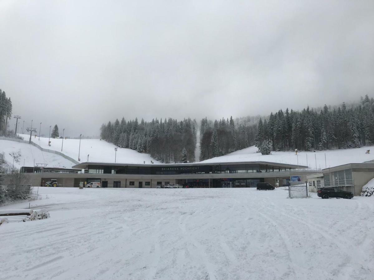
[[[30,138],[30,134],[18,134],[23,137],[24,140]],[[62,139],[50,139],[50,147],[48,147],[48,137],[31,137],[31,141],[38,144],[40,147],[50,150],[56,150],[61,152]],[[114,162],[114,148],[116,146],[100,139],[82,139],[80,141],[80,162],[87,161],[87,155],[89,155],[89,161],[91,162]],[[64,139],[62,147],[62,153],[71,158],[78,160],[79,152],[79,139]],[[118,148],[117,150],[117,163],[134,163],[134,164],[150,164],[151,160],[154,164],[160,162],[151,158],[149,154],[138,153],[137,151],[125,148]]]

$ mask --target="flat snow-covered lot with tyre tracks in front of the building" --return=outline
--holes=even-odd
[[[49,219],[0,227],[0,279],[373,279],[371,198],[288,199],[281,188],[39,194],[31,208]]]

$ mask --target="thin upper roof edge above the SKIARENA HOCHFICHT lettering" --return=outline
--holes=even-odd
[[[204,165],[243,165],[243,164],[262,164],[272,165],[277,167],[285,168],[308,168],[304,165],[294,164],[283,164],[278,162],[267,162],[267,161],[239,161],[239,162],[196,162],[186,164],[125,164],[125,163],[114,163],[114,162],[82,162],[74,165],[72,168],[85,169],[88,165],[101,165],[101,166],[139,166],[139,167],[181,167],[181,166],[204,166]]]

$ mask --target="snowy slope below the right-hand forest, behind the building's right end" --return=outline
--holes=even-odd
[[[365,146],[356,149],[299,152],[298,156],[295,155],[295,152],[291,151],[272,152],[271,155],[261,155],[261,153],[256,153],[257,150],[257,147],[252,146],[230,153],[226,156],[218,156],[217,158],[207,159],[202,162],[269,161],[285,164],[297,164],[298,161],[299,165],[308,165],[310,168],[315,169],[317,161],[317,169],[321,169],[348,163],[371,161],[372,159],[374,159],[374,146]],[[371,153],[366,154],[366,150],[371,150]]]

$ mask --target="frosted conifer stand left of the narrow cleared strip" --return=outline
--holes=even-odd
[[[116,146],[129,148],[140,153],[150,153],[157,161],[175,163],[194,161],[196,146],[196,121],[190,118],[178,122],[169,118],[163,122],[157,118],[151,122],[144,119],[121,121],[101,126],[101,139]]]

